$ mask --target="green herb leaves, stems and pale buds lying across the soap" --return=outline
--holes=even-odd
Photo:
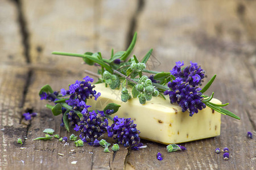
[[[138,97],[139,102],[141,104],[145,104],[146,101],[149,101],[152,99],[152,97],[156,97],[158,95],[165,99],[164,92],[170,90],[170,88],[167,87],[167,83],[172,82],[176,79],[176,77],[170,73],[146,69],[146,63],[151,56],[152,49],[148,51],[141,61],[138,61],[135,55],[129,58],[135,46],[136,40],[137,33],[134,34],[133,40],[126,51],[114,53],[114,50],[112,49],[109,59],[103,58],[100,52],[86,52],[84,54],[53,52],[52,54],[81,57],[88,65],[99,65],[100,69],[98,69],[98,74],[101,76],[99,77],[97,83],[105,83],[106,87],[109,86],[112,89],[118,89],[121,87],[121,99],[124,102],[132,99],[132,97]],[[152,79],[149,79],[148,76],[143,75],[143,73],[153,74],[155,82],[152,82]],[[210,79],[209,83],[207,83],[207,85],[200,91],[201,94],[208,90],[215,77],[216,75],[214,75],[213,78]],[[131,89],[131,94],[129,89]],[[210,100],[213,97],[213,93],[209,97],[204,94],[201,95],[201,97],[204,98],[202,102],[208,107],[212,108],[214,111],[240,119],[240,117],[236,116],[234,113],[222,108],[228,105],[228,103],[221,105],[211,103]],[[63,104],[61,105],[64,107]],[[56,112],[60,114],[61,105],[56,105],[54,108],[52,108],[52,111],[56,110]],[[80,113],[77,113],[77,115],[81,117]],[[65,120],[65,118],[63,118],[63,120]]]

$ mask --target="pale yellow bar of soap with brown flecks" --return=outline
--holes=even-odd
[[[181,112],[177,104],[171,104],[168,96],[152,97],[146,104],[139,100],[131,99],[126,103],[121,101],[121,90],[106,88],[105,84],[95,84],[95,90],[101,92],[98,100],[88,100],[86,104],[92,105],[91,109],[103,110],[107,104],[121,105],[114,117],[131,118],[137,129],[141,131],[139,137],[163,144],[183,143],[198,139],[216,137],[220,135],[221,113],[206,107],[193,117],[188,112]],[[212,103],[221,104],[220,100],[212,99]],[[111,124],[112,121],[109,121]]]

